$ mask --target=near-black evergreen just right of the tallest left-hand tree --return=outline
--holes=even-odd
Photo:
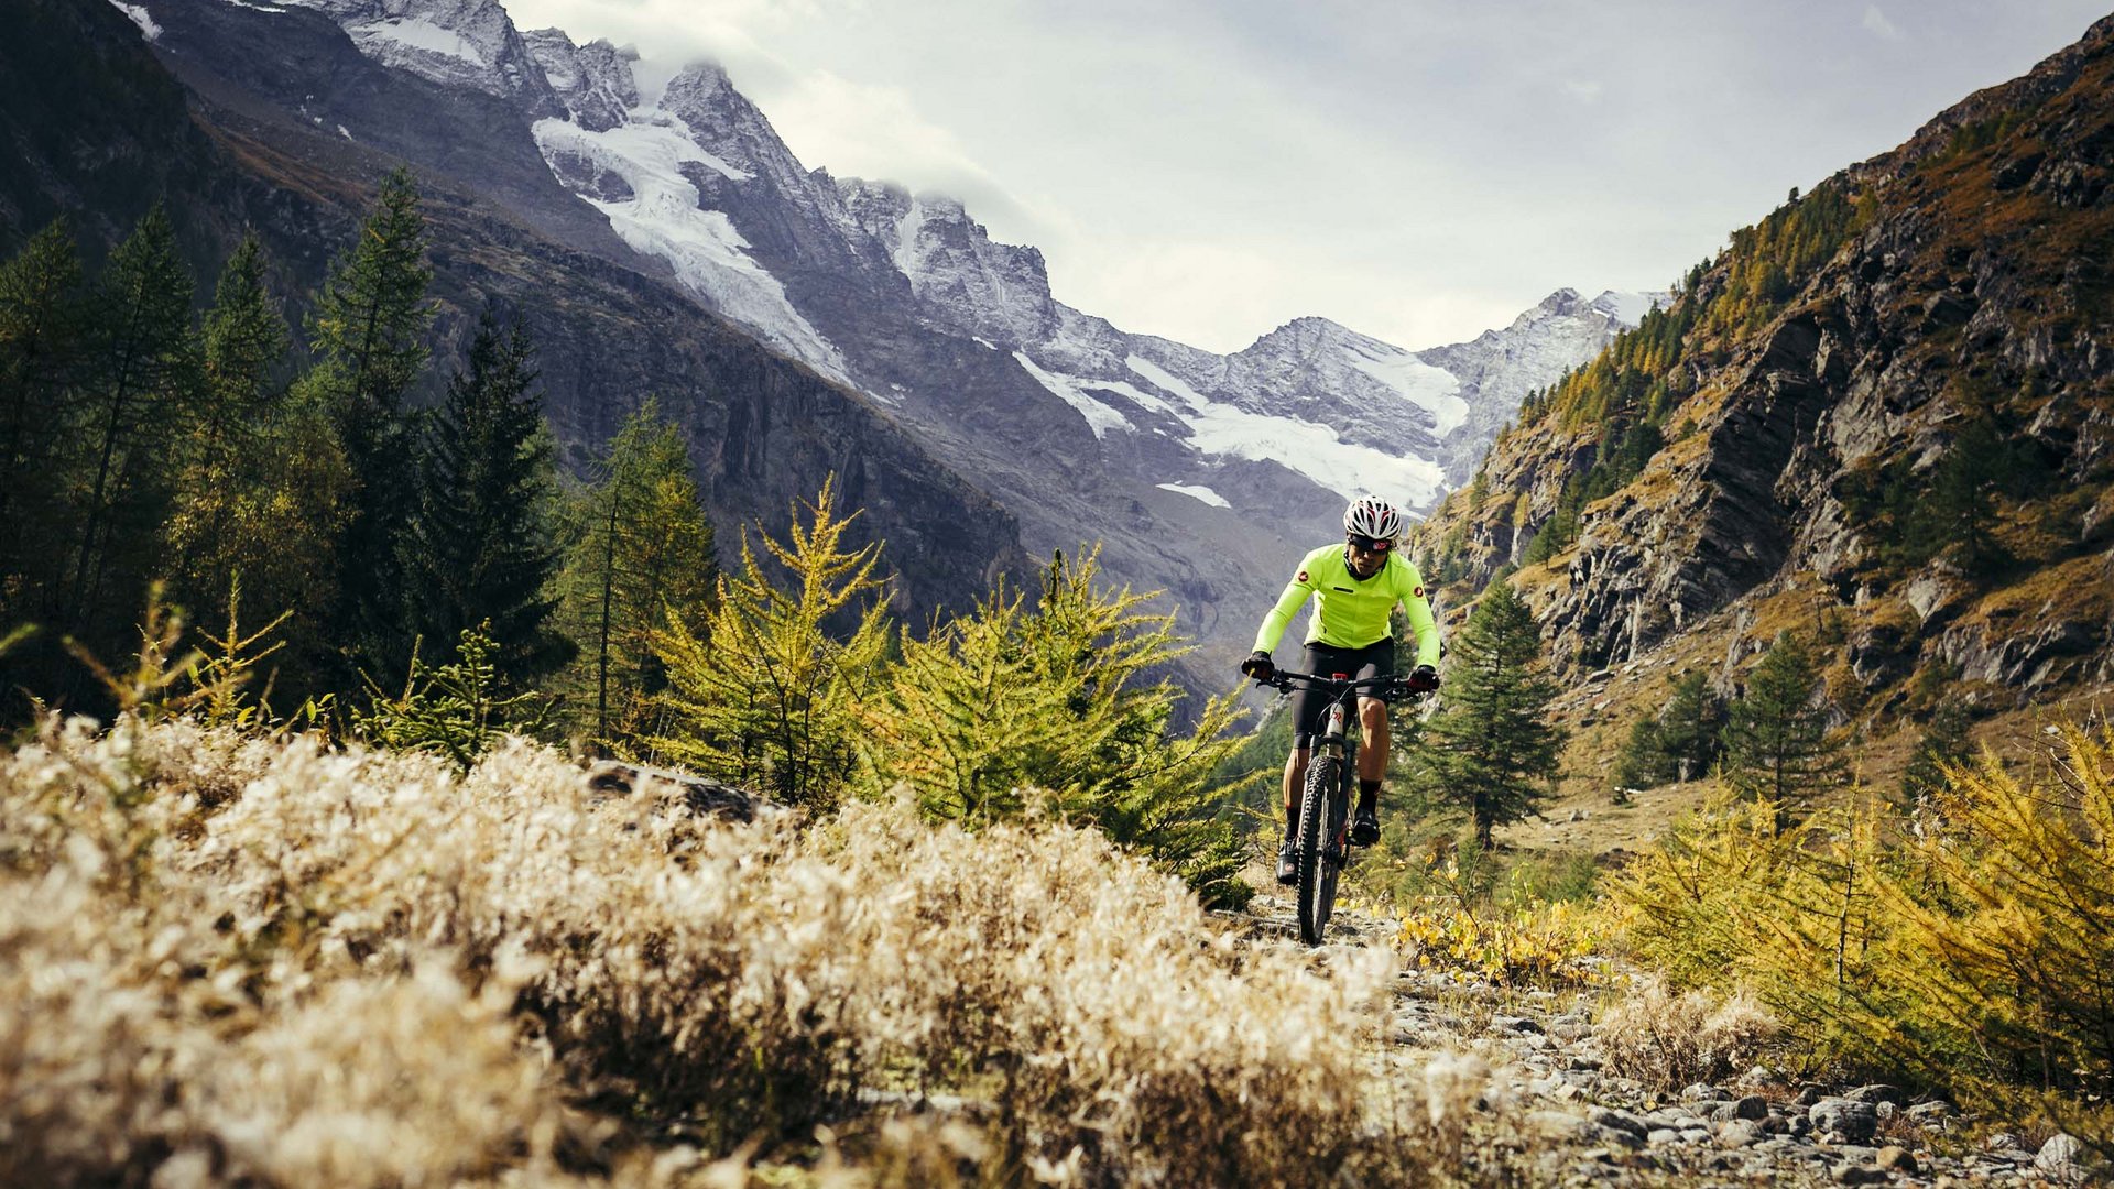
[[[514,690],[573,654],[550,622],[556,468],[533,355],[520,324],[501,332],[490,309],[478,317],[469,368],[448,381],[427,429],[404,556],[416,635],[486,633],[490,669]]]

